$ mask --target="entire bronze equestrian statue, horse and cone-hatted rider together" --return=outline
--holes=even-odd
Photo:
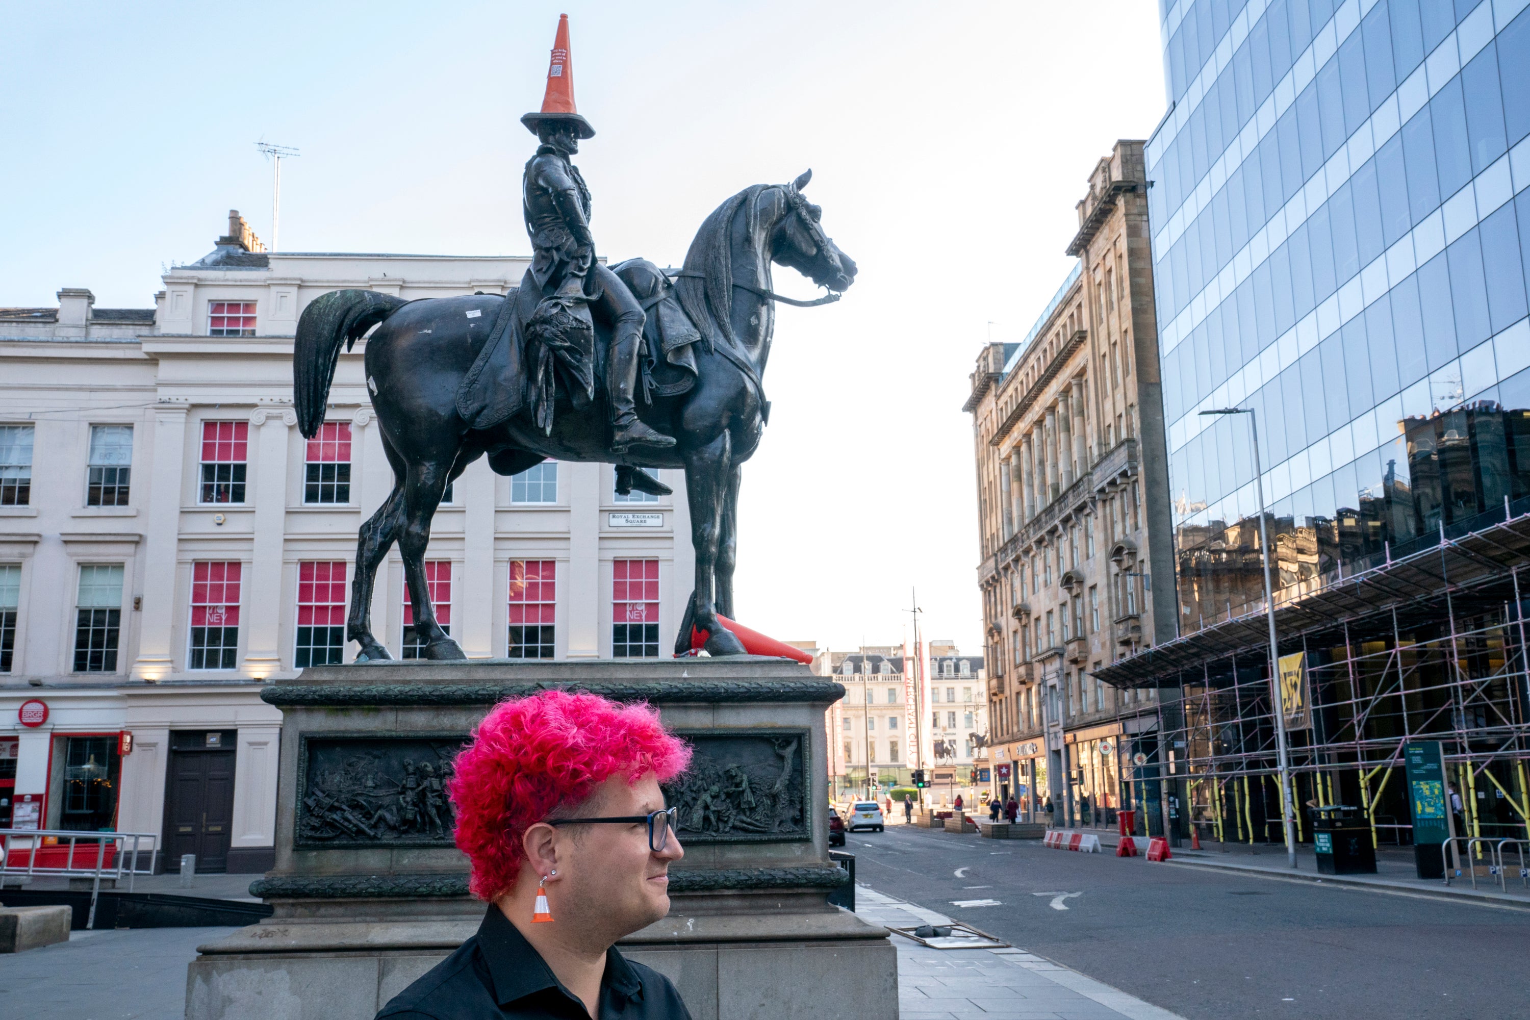
[[[566,67],[566,43],[562,52]],[[554,67],[557,61],[555,49]],[[707,632],[708,655],[744,653],[718,615],[733,615],[739,473],[770,411],[760,376],[774,303],[837,300],[854,283],[855,263],[802,194],[812,176],[806,171],[791,184],[745,188],[718,206],[676,274],[641,258],[607,269],[595,261],[589,191],[568,162],[577,136],[594,132],[580,127],[571,89],[572,118],[546,113],[543,104],[542,115],[528,115],[542,147],[526,164],[536,254],[520,287],[505,297],[416,301],[334,291],[298,320],[292,393],[308,437],[324,422],[341,349],[375,327],[366,379],[393,491],[356,544],[346,636],[361,645],[358,662],[392,658],[372,633],[369,610],[378,564],[393,541],[425,658],[465,658],[436,622],[424,555],[445,488],[479,457],[497,474],[519,474],[548,457],[615,463],[618,488],[646,491],[664,486],[643,468],[684,468],[696,580],[676,653],[690,648],[692,625]],[[773,263],[831,294],[815,301],[776,295]],[[601,378],[604,402],[595,399]]]

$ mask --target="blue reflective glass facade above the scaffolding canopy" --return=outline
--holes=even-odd
[[[1247,416],[1198,411],[1258,413],[1278,598],[1530,497],[1525,5],[1164,11],[1146,154],[1181,635],[1261,603]]]

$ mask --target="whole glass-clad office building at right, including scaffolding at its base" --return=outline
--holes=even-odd
[[[1180,687],[1181,760],[1253,781],[1190,783],[1190,814],[1265,832],[1250,416],[1204,414],[1248,408],[1279,651],[1302,656],[1297,803],[1369,804],[1400,740],[1443,734],[1476,763],[1452,778],[1487,791],[1461,824],[1524,836],[1527,0],[1161,0],[1161,29],[1146,158],[1180,636],[1111,681]],[[1484,766],[1489,746],[1510,757]],[[1408,838],[1395,795],[1382,841]]]

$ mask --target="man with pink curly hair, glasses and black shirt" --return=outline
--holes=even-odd
[[[614,948],[669,913],[685,852],[659,783],[688,763],[647,705],[566,691],[497,705],[450,783],[483,924],[378,1018],[688,1020],[667,977]]]

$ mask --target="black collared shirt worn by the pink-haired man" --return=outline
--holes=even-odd
[[[491,1020],[562,1017],[589,1020],[578,996],[563,986],[526,936],[490,904],[477,934],[393,997],[376,1020]],[[606,950],[598,1020],[690,1020],[667,977]]]

